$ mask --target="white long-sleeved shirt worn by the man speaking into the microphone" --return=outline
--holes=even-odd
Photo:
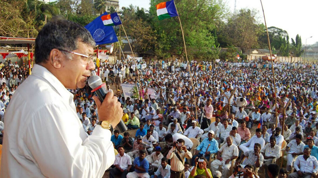
[[[0,177],[102,177],[115,159],[111,132],[98,125],[87,137],[74,95],[44,67],[26,81],[6,110]]]

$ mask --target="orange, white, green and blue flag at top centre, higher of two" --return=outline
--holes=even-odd
[[[178,16],[174,1],[162,2],[156,5],[159,20]]]

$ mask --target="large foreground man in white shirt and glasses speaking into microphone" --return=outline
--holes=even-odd
[[[0,177],[102,177],[115,160],[111,131],[121,120],[109,92],[97,104],[100,125],[86,137],[73,94],[95,69],[90,33],[77,23],[53,20],[35,40],[32,75],[16,90],[5,114]]]

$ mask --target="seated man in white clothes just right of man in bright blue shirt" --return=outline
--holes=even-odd
[[[239,157],[239,148],[233,145],[232,137],[226,137],[226,143],[218,150],[217,159],[211,163],[212,172],[216,172],[222,166],[222,178],[229,177],[227,173],[230,172],[233,159]],[[221,155],[222,154],[222,155]]]

